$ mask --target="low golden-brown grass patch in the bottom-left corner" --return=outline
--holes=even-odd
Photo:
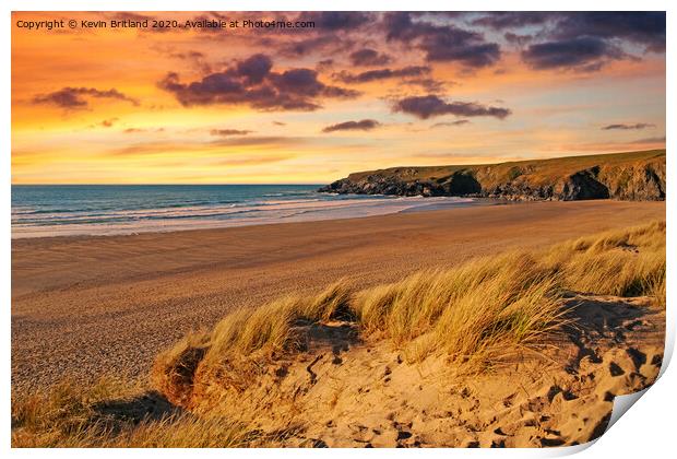
[[[138,419],[138,413],[106,410],[116,403],[133,410],[143,393],[140,384],[111,377],[91,386],[63,381],[44,392],[14,393],[12,447],[237,447],[257,438],[245,424],[224,419],[188,412]]]

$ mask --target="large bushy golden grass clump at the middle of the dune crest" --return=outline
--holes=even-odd
[[[407,346],[409,361],[444,352],[470,369],[560,323],[558,291],[554,270],[511,252],[364,291],[355,308],[366,336]]]

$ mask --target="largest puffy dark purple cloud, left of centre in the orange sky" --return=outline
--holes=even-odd
[[[272,71],[272,67],[268,56],[254,55],[191,83],[181,83],[179,75],[170,72],[158,85],[185,106],[244,104],[262,110],[316,110],[321,98],[351,98],[359,94],[322,83],[316,70],[289,69],[280,73]]]

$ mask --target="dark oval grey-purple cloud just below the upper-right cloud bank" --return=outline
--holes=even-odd
[[[595,37],[547,42],[528,46],[522,59],[534,69],[595,71],[626,55],[616,46]]]

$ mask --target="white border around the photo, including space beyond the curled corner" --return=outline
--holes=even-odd
[[[236,0],[231,2],[223,1],[209,1],[209,0],[192,0],[190,2],[178,0],[165,0],[163,2],[152,1],[133,1],[133,0],[118,0],[118,1],[85,1],[85,0],[62,0],[60,2],[49,0],[5,0],[2,2],[2,9],[4,12],[3,28],[2,28],[2,62],[4,62],[2,72],[2,83],[4,91],[1,94],[1,101],[4,109],[1,111],[2,121],[2,146],[5,167],[1,169],[1,195],[2,195],[2,225],[0,232],[2,234],[2,264],[1,264],[1,282],[2,297],[4,299],[4,314],[2,315],[3,336],[4,342],[1,349],[0,365],[2,365],[3,379],[2,379],[2,398],[0,400],[2,409],[2,427],[0,435],[2,437],[2,448],[9,449],[10,446],[10,304],[11,304],[11,231],[10,231],[10,208],[11,208],[11,174],[10,174],[10,151],[11,151],[11,27],[10,12],[15,11],[312,11],[312,10],[365,10],[365,11],[650,11],[660,10],[667,11],[667,97],[666,97],[666,126],[667,126],[667,150],[673,151],[675,148],[675,107],[677,101],[675,99],[674,82],[675,75],[675,27],[677,21],[675,21],[675,14],[677,14],[677,3],[667,0],[643,0],[641,2],[630,0],[615,0],[615,1],[591,1],[591,0],[554,0],[543,2],[535,0],[513,0],[511,2],[500,0],[458,0],[454,2],[448,1],[429,1],[417,0],[415,3],[412,1],[393,0],[393,1],[373,1],[373,0],[344,0],[341,3],[325,2],[319,4],[317,1],[311,0],[287,0],[284,3],[272,0]],[[672,8],[670,8],[672,7]],[[677,247],[675,246],[675,200],[669,199],[673,197],[674,187],[672,186],[675,177],[675,162],[670,160],[672,153],[668,153],[668,180],[667,180],[667,222],[668,222],[668,238],[667,238],[667,254],[668,254],[668,285],[677,285],[677,274],[675,273],[673,266],[675,266],[675,254],[677,254]],[[673,299],[675,298],[674,290],[668,287],[668,310],[667,310],[667,325],[668,337],[666,339],[666,358],[668,361],[668,354],[672,354],[675,339],[675,307]],[[674,365],[672,365],[674,366]],[[666,365],[664,366],[664,368]],[[596,442],[592,448],[551,448],[551,449],[504,449],[489,450],[489,449],[428,449],[428,450],[385,450],[385,449],[342,449],[342,450],[323,450],[322,455],[333,457],[348,457],[355,455],[372,455],[372,457],[389,457],[396,454],[402,456],[418,456],[425,455],[427,457],[448,457],[448,456],[463,456],[477,455],[477,456],[498,456],[524,458],[524,457],[546,457],[546,456],[561,456],[566,454],[572,454],[583,449],[580,457],[619,457],[619,458],[633,458],[638,457],[667,457],[668,454],[674,454],[674,440],[675,440],[675,419],[674,413],[677,408],[676,397],[673,388],[677,387],[677,370],[674,368],[667,368],[664,370],[661,379],[652,387],[645,396],[643,396],[637,404],[630,410],[630,414],[622,416],[602,438]],[[16,457],[31,457],[34,455],[54,456],[54,457],[91,457],[96,454],[102,457],[117,457],[118,455],[124,455],[129,457],[150,457],[162,454],[165,457],[223,457],[224,455],[237,455],[238,457],[254,458],[260,455],[266,455],[270,457],[285,457],[289,452],[307,457],[310,455],[317,455],[318,450],[11,450],[12,456]],[[669,452],[668,452],[669,451]]]

